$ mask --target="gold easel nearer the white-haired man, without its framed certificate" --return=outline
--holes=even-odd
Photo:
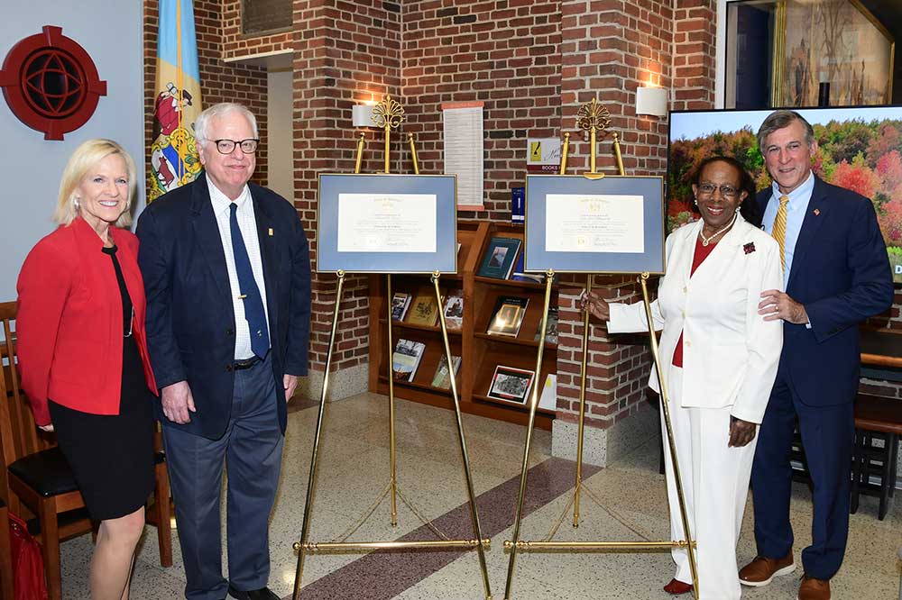
[[[386,95],[385,99],[382,100],[381,103],[376,105],[373,108],[373,122],[376,123],[376,126],[382,128],[384,130],[385,136],[385,168],[384,172],[388,174],[390,172],[390,141],[391,141],[391,130],[397,129],[400,126],[401,121],[404,119],[404,109],[403,107],[396,101],[392,100],[390,95]],[[410,142],[410,152],[413,157],[413,169],[416,175],[419,175],[419,163],[417,161],[417,150],[414,146],[413,134],[408,134],[408,141]],[[361,170],[361,164],[363,162],[363,153],[364,153],[364,133],[361,132],[360,137],[357,141],[357,156],[354,164],[354,174],[359,174]],[[335,311],[332,314],[332,330],[329,333],[329,345],[327,350],[327,358],[326,358],[326,374],[323,378],[323,391],[322,395],[319,399],[319,413],[317,416],[317,428],[316,434],[313,440],[313,455],[310,459],[310,475],[308,479],[307,486],[307,503],[304,507],[304,521],[301,526],[300,532],[300,541],[294,544],[294,550],[298,551],[298,569],[295,573],[294,580],[294,595],[292,596],[294,600],[299,600],[300,598],[300,589],[301,589],[301,579],[304,574],[304,557],[307,552],[317,552],[317,551],[368,551],[368,550],[450,550],[450,549],[476,549],[476,552],[479,557],[479,567],[483,576],[483,588],[485,589],[485,600],[492,600],[492,589],[489,585],[489,572],[486,567],[485,562],[485,549],[488,548],[490,540],[488,538],[483,539],[482,529],[479,524],[479,514],[476,511],[476,501],[473,487],[473,477],[470,473],[470,459],[466,450],[466,440],[464,435],[464,422],[461,415],[460,410],[460,400],[457,395],[457,383],[456,378],[453,376],[454,369],[450,368],[454,363],[451,360],[451,344],[448,341],[448,334],[445,322],[445,314],[441,310],[442,306],[442,295],[441,289],[438,286],[439,277],[441,277],[441,273],[438,271],[433,271],[431,274],[431,281],[436,291],[436,299],[437,305],[439,307],[438,310],[438,321],[441,325],[442,332],[442,341],[444,342],[445,348],[445,359],[446,364],[450,368],[450,372],[452,373],[452,377],[450,377],[451,382],[451,395],[454,399],[455,406],[455,414],[456,414],[456,423],[457,423],[457,439],[460,443],[461,454],[464,459],[464,473],[466,479],[466,490],[469,497],[470,504],[470,516],[473,521],[473,530],[474,530],[474,538],[470,540],[450,540],[447,536],[438,531],[437,528],[430,522],[426,521],[423,517],[420,516],[419,511],[410,503],[410,501],[400,493],[398,489],[398,480],[396,477],[396,461],[395,461],[395,403],[394,403],[394,376],[392,371],[392,355],[394,353],[394,345],[391,340],[391,274],[387,274],[387,286],[386,286],[386,298],[388,302],[386,302],[387,306],[387,329],[388,329],[388,377],[389,377],[389,456],[390,456],[390,471],[391,475],[389,478],[388,486],[382,491],[382,494],[376,499],[375,503],[371,505],[369,510],[364,513],[364,516],[354,524],[354,526],[345,532],[342,536],[340,536],[339,541],[327,541],[327,542],[316,542],[316,541],[308,541],[309,529],[310,529],[310,514],[313,509],[313,492],[317,485],[317,466],[318,466],[318,458],[319,458],[319,441],[322,435],[322,424],[323,424],[323,414],[325,412],[326,407],[326,396],[328,392],[328,382],[329,382],[329,374],[331,372],[332,367],[332,353],[335,347],[335,339],[336,339],[336,330],[338,328],[338,313],[339,306],[341,305],[342,291],[345,285],[345,271],[339,270],[336,273],[338,278],[338,287],[336,290],[336,305]],[[396,527],[398,525],[398,509],[397,509],[397,500],[396,497],[400,495],[400,498],[406,505],[410,507],[410,510],[413,514],[417,515],[417,517],[425,523],[429,529],[437,534],[438,537],[442,538],[441,540],[435,541],[346,541],[351,534],[353,534],[357,529],[363,525],[366,520],[375,512],[376,508],[382,504],[382,500],[385,499],[386,495],[391,493],[391,526]]]

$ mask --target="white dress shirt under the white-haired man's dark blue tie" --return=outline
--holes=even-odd
[[[238,284],[238,271],[235,269],[235,250],[232,250],[232,227],[229,224],[231,218],[232,200],[217,188],[207,177],[207,186],[210,189],[210,202],[213,204],[213,214],[216,215],[216,224],[219,225],[219,237],[223,241],[223,250],[226,253],[226,268],[228,269],[228,282],[232,288],[232,305],[235,308],[235,360],[250,359],[253,357],[251,350],[251,330],[244,318],[244,300],[241,299],[241,286]],[[266,286],[263,282],[263,262],[260,258],[260,239],[257,237],[257,221],[253,216],[253,200],[251,190],[245,184],[241,195],[235,199],[238,210],[235,217],[238,220],[238,229],[244,239],[244,247],[247,256],[251,259],[253,280],[260,289],[260,297],[263,302],[263,311],[266,314],[266,327],[269,331],[270,315],[266,307]],[[270,338],[272,340],[272,337]]]

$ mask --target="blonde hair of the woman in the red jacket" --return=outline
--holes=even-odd
[[[128,172],[128,197],[125,199],[125,210],[115,222],[116,227],[128,227],[132,224],[132,199],[138,188],[137,168],[134,160],[125,149],[112,140],[96,138],[83,141],[72,152],[66,168],[62,171],[60,179],[60,196],[57,199],[57,207],[53,212],[53,222],[60,225],[68,225],[78,216],[78,202],[76,189],[81,180],[87,177],[88,172],[97,166],[97,163],[111,154],[118,154],[125,162],[125,170]]]

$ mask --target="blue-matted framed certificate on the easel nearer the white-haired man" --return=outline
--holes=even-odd
[[[317,270],[457,272],[456,177],[320,174]]]

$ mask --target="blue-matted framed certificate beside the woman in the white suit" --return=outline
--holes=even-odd
[[[528,175],[525,270],[664,273],[662,177]]]

